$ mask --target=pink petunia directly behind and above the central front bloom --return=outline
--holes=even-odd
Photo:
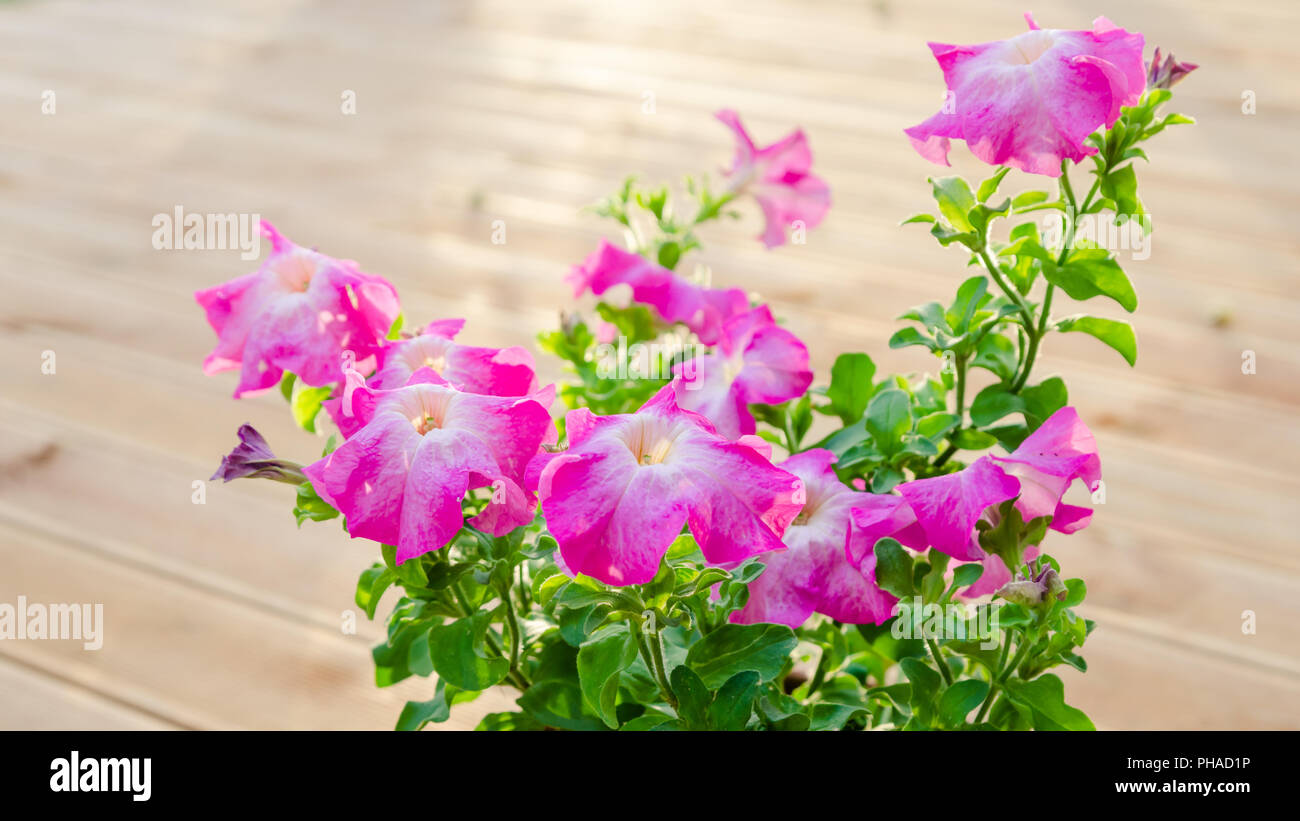
[[[794,399],[812,383],[807,347],[776,323],[767,305],[728,320],[715,353],[679,364],[673,373],[677,404],[728,439],[757,430],[750,403]]]

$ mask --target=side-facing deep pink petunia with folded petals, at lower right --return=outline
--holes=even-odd
[[[959,561],[984,561],[975,524],[993,516],[989,508],[1008,499],[1024,521],[1050,516],[1050,527],[1074,533],[1092,511],[1061,499],[1074,479],[1089,490],[1101,481],[1101,460],[1092,431],[1074,408],[1061,408],[1020,443],[1010,456],[982,456],[957,473],[898,486],[898,495],[868,496],[853,511],[861,530],[849,559],[861,561],[878,539],[892,537],[916,551],[935,548]],[[991,568],[985,564],[985,572]],[[1005,565],[1002,573],[1009,570]]]

